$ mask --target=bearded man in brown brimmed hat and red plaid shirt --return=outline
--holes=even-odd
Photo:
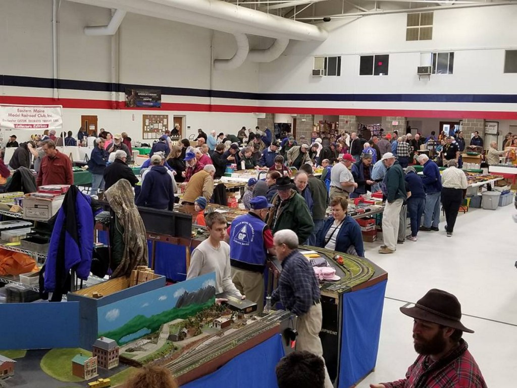
[[[415,319],[413,339],[419,354],[406,378],[370,388],[486,388],[478,364],[467,350],[461,323],[461,304],[446,291],[432,289],[414,307],[400,311]]]

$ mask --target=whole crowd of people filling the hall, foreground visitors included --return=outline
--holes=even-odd
[[[127,133],[112,136],[102,131],[94,137],[81,128],[77,141],[70,132],[59,139],[71,145],[72,140],[88,144],[94,138],[88,161],[92,195],[127,180],[138,192],[136,205],[173,210],[178,200],[175,194],[184,191],[181,203],[193,207],[194,223],[208,231],[208,238],[192,252],[187,279],[215,272],[218,294],[249,299],[260,313],[264,308],[267,261],[271,255],[278,258],[282,272],[271,302],[281,302],[298,316],[297,352],[277,367],[280,388],[309,386],[308,382],[313,387],[332,386],[318,335],[323,317],[320,288],[299,247],[312,245],[364,257],[361,228],[347,214],[348,198],[376,191],[382,191],[385,200],[384,244],[379,253],[394,253],[405,240],[417,241],[420,231],[438,231],[440,204],[450,237],[467,187],[466,176],[458,168],[465,148],[461,132],[456,138],[443,139],[434,139],[434,133],[427,139],[410,133],[399,136],[397,131],[363,139],[353,132],[342,133],[337,139],[318,138],[313,143],[305,137],[297,142],[291,133],[275,139],[268,128],[259,127],[254,131],[243,127],[237,136],[222,132],[216,136],[216,131],[207,135],[200,129],[195,144],[187,139],[173,144],[170,135],[165,132],[151,147],[149,159],[141,166],[141,180],[128,166],[132,150]],[[17,148],[9,167],[30,168],[34,159],[38,186],[73,184],[71,161],[56,148],[59,139],[52,131],[21,144],[16,136],[11,137],[9,146]],[[417,153],[430,141],[444,141],[435,160]],[[482,146],[482,139],[474,136],[471,144],[478,147],[480,141]],[[413,167],[416,163],[423,166],[421,176]],[[248,181],[242,202],[249,213],[227,225],[226,218],[210,212],[208,204],[215,195],[214,180],[223,176],[229,165],[237,170],[267,172],[265,180]],[[438,165],[448,168],[440,175]],[[315,176],[316,167],[323,168],[321,176]],[[406,236],[408,217],[410,234]],[[461,306],[453,295],[431,290],[416,307],[402,312],[415,319],[413,336],[419,357],[409,368],[406,380],[372,387],[403,387],[408,381],[445,378],[457,379],[454,382],[459,385],[450,386],[485,386],[462,339],[462,333],[470,331],[460,323]],[[164,373],[143,370],[138,379],[144,385],[138,386],[147,386],[149,381],[156,381],[153,386],[173,386],[173,380],[166,376],[159,379],[161,382],[156,376],[149,380],[146,374],[151,372],[156,376]],[[128,382],[127,386],[137,386],[134,384]]]

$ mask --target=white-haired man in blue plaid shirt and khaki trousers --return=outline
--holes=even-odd
[[[275,304],[280,301],[285,309],[298,316],[296,350],[307,350],[323,359],[320,285],[314,270],[298,250],[298,236],[292,230],[276,232],[273,243],[277,258],[282,263],[282,273],[278,288],[271,295],[271,302]],[[326,367],[325,388],[332,388]]]

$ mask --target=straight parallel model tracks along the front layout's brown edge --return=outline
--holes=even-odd
[[[235,348],[239,344],[273,329],[281,320],[288,319],[290,315],[291,313],[288,311],[273,311],[270,315],[248,323],[233,333],[224,334],[224,336],[221,337],[217,337],[219,334],[207,337],[206,339],[217,338],[206,346],[201,347],[202,344],[200,344],[189,349],[188,352],[182,354],[179,359],[166,363],[164,366],[171,370],[175,377],[185,375],[210,360],[216,359],[221,354]],[[228,330],[229,329],[223,331],[223,333]]]

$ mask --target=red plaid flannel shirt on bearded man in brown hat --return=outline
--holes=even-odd
[[[460,345],[442,359],[433,362],[420,355],[403,380],[383,383],[386,388],[486,388],[478,364],[460,339]]]

